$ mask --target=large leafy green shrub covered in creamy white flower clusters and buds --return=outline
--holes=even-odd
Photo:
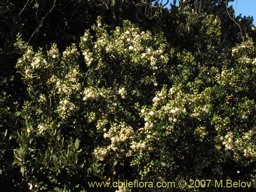
[[[204,48],[172,48],[128,21],[109,32],[98,18],[81,51],[35,52],[18,36],[29,98],[14,164],[30,189],[84,191],[99,178],[254,181],[255,46],[221,52],[214,16],[201,25],[200,57]]]

